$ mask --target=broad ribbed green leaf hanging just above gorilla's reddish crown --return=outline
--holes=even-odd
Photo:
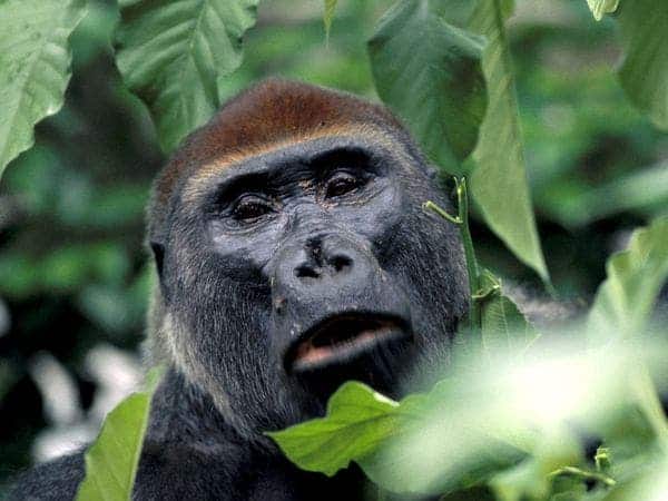
[[[259,0],[139,0],[121,7],[117,62],[174,149],[219,102],[216,80],[242,62]]]

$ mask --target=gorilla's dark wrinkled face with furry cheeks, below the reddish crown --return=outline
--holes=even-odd
[[[320,415],[357,380],[399,397],[464,312],[433,170],[392,137],[323,137],[181,184],[161,266],[184,372],[245,435]]]

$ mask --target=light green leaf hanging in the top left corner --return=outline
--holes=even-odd
[[[0,175],[32,146],[33,126],[61,108],[68,38],[85,11],[85,0],[0,2]]]

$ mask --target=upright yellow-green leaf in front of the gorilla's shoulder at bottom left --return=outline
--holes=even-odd
[[[132,393],[107,415],[99,436],[86,452],[86,478],[79,485],[77,501],[131,499],[150,400],[159,376],[159,369],[151,370],[147,390]]]

